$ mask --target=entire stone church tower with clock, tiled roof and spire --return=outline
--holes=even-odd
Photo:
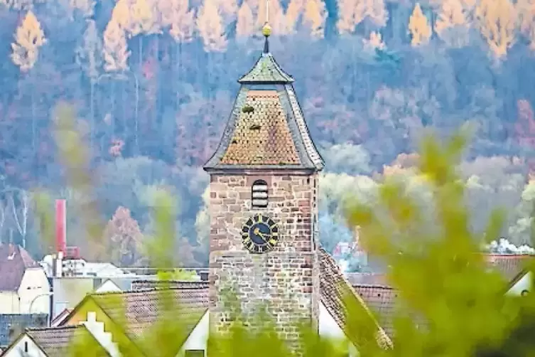
[[[284,339],[296,341],[293,324],[318,329],[318,172],[323,159],[310,139],[286,74],[264,50],[239,79],[232,114],[210,174],[210,324],[225,331],[225,309],[234,288],[242,313],[266,303]]]

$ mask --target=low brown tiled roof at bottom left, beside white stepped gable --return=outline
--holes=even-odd
[[[77,339],[89,338],[97,347],[92,356],[109,356],[84,325],[61,326],[42,329],[26,329],[26,334],[43,350],[48,357],[68,356],[70,348]],[[79,341],[79,340],[78,340]],[[93,352],[93,351],[92,351]]]

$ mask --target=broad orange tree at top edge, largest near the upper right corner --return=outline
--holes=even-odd
[[[475,9],[481,35],[492,53],[501,58],[514,43],[517,11],[509,0],[481,0]]]

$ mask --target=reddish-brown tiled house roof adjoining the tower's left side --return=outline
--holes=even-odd
[[[161,316],[180,316],[185,339],[208,309],[208,289],[151,289],[92,294],[92,299],[113,321],[124,321],[133,341],[142,339]]]

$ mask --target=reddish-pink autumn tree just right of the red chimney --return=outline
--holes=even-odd
[[[117,208],[102,234],[104,242],[108,242],[109,255],[114,264],[127,267],[139,260],[143,235],[128,208]]]

